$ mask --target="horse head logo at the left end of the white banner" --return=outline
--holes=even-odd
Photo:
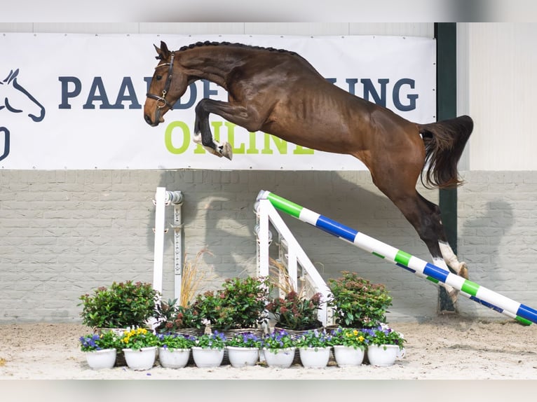
[[[11,113],[22,113],[29,110],[27,116],[34,122],[40,122],[45,118],[45,108],[17,81],[19,70],[11,70],[4,81],[0,81],[0,111],[6,110]],[[0,160],[9,155],[10,132],[7,127],[0,127],[0,133],[4,133],[4,152]]]

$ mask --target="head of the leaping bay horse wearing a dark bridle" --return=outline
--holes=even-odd
[[[164,121],[164,114],[172,109],[173,104],[181,97],[189,84],[188,76],[177,60],[175,52],[170,52],[166,43],[155,46],[156,59],[159,60],[155,73],[149,84],[147,99],[144,104],[144,119],[147,124],[155,127]]]

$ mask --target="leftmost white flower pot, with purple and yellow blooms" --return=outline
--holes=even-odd
[[[79,338],[80,349],[86,354],[88,366],[94,370],[112,368],[116,363],[118,336],[113,331],[90,333]]]

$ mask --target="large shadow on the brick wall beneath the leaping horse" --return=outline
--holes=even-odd
[[[329,216],[346,226],[362,230],[394,247],[429,260],[425,245],[400,211],[373,185],[369,172],[278,172],[278,171],[189,171],[164,172],[158,186],[181,190],[184,195],[183,251],[195,256],[207,247],[204,263],[214,268],[216,286],[227,277],[255,275],[256,224],[254,202],[259,190],[270,190],[299,205]],[[424,196],[436,202],[432,193]],[[435,193],[436,194],[436,193]],[[405,289],[409,274],[397,270],[375,256],[346,242],[282,214],[292,233],[320,269],[325,279],[342,270],[360,275],[390,289]],[[166,208],[166,226],[172,221],[172,208]],[[153,249],[154,213],[149,219],[148,248]],[[276,237],[276,233],[273,233]],[[165,237],[165,264],[172,264],[173,236]],[[271,247],[273,249],[273,247]],[[170,271],[165,268],[165,272]],[[403,278],[403,279],[401,279]],[[173,282],[170,275],[163,279]],[[168,285],[169,288],[169,285]],[[434,303],[434,302],[433,302]]]

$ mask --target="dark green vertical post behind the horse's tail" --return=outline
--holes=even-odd
[[[457,27],[456,22],[436,22],[436,110],[437,120],[457,114]],[[457,189],[440,190],[440,210],[447,241],[457,253]],[[440,313],[456,312],[447,292],[440,287]]]

